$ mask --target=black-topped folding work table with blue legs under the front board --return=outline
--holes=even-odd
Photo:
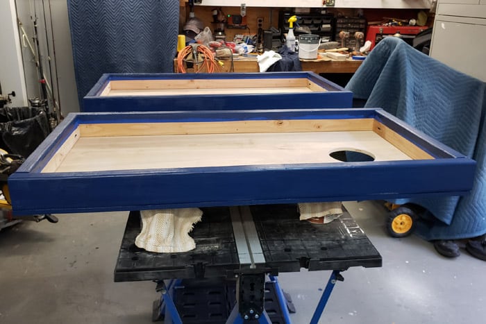
[[[317,323],[341,271],[381,266],[381,257],[349,213],[326,225],[299,221],[296,205],[203,208],[187,253],[137,248],[140,218],[131,212],[115,281],[154,280],[160,301],[153,319],[165,323],[290,323],[276,275],[333,270],[310,323]],[[265,275],[269,281],[265,282]],[[236,289],[239,287],[239,289]],[[237,316],[240,314],[240,316]]]

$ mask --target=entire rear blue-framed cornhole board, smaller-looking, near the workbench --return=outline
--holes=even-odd
[[[352,106],[352,92],[312,72],[103,74],[83,99],[83,112]]]

